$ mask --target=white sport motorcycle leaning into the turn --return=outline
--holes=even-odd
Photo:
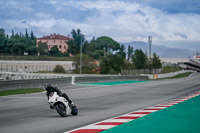
[[[52,109],[56,109],[58,114],[62,117],[66,117],[69,114],[78,115],[77,107],[72,103],[69,105],[68,101],[57,94],[57,92],[51,92],[49,95],[49,104]]]

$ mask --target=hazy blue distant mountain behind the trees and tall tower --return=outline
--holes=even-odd
[[[149,53],[149,44],[145,42],[133,41],[129,43],[122,43],[125,45],[126,50],[128,45],[131,45],[134,50],[142,49],[144,52]],[[156,53],[161,58],[188,58],[193,57],[194,52],[188,49],[169,48],[165,46],[152,45],[151,53]]]

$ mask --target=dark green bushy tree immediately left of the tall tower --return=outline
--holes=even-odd
[[[135,54],[132,56],[132,62],[135,69],[147,68],[147,57],[141,49],[135,50]]]

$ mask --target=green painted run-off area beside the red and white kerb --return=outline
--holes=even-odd
[[[101,133],[199,133],[200,96]]]

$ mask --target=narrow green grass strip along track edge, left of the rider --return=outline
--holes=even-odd
[[[27,88],[27,89],[15,89],[15,90],[3,90],[0,91],[0,96],[17,95],[17,94],[28,94],[43,92],[44,89],[41,88]]]

